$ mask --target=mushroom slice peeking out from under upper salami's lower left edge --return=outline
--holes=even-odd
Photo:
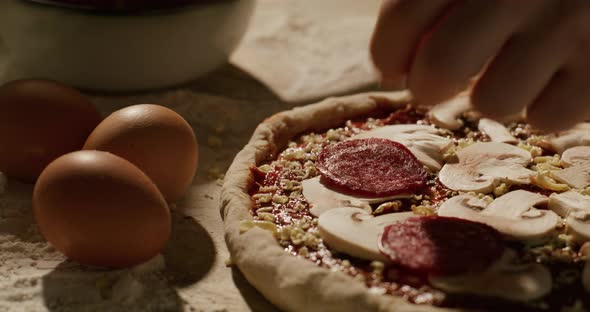
[[[370,212],[370,204],[378,204],[388,200],[412,197],[411,194],[375,198],[344,194],[326,187],[320,181],[320,177],[303,180],[301,185],[303,187],[303,196],[311,205],[310,212],[316,217],[336,207],[356,207]]]

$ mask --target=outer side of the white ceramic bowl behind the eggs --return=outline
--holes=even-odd
[[[228,60],[254,1],[112,14],[0,0],[0,81],[49,78],[107,91],[190,81]]]

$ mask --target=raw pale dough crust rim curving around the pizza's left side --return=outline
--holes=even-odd
[[[328,98],[271,116],[254,131],[235,157],[221,192],[225,240],[246,279],[269,301],[286,311],[458,311],[408,303],[390,295],[374,295],[342,272],[331,272],[286,253],[269,231],[252,228],[240,233],[242,221],[253,220],[248,187],[250,167],[276,154],[296,135],[326,130],[383,107],[410,101],[407,92],[372,92]]]

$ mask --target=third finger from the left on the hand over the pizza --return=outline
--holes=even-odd
[[[535,18],[508,40],[477,82],[472,102],[483,114],[497,119],[531,105],[577,44],[563,27],[560,8],[542,2],[536,2],[542,10],[534,11]]]

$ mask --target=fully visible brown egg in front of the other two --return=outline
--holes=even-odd
[[[78,151],[49,164],[35,185],[33,210],[43,236],[86,265],[135,265],[170,237],[170,212],[156,185],[107,152]]]

